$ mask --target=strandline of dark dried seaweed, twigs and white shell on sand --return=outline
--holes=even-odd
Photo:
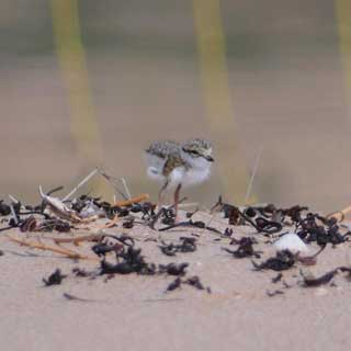
[[[78,190],[95,174],[103,176],[113,185],[113,201],[111,203],[90,194],[76,195]],[[123,192],[117,188],[121,181]],[[104,275],[104,281],[106,281],[115,274],[167,274],[176,276],[167,291],[173,291],[186,284],[211,292],[210,287],[206,288],[201,283],[199,276],[188,278],[189,263],[159,264],[149,262],[148,259],[145,259],[148,256],[144,257],[141,253],[144,247],[137,248],[135,245],[136,241],[141,241],[143,245],[146,241],[154,241],[163,254],[172,257],[196,251],[199,242],[203,244],[204,239],[207,239],[206,242],[208,242],[211,239],[206,237],[206,230],[215,234],[211,242],[229,241],[229,245],[234,248],[222,249],[239,259],[261,258],[263,250],[278,237],[278,240],[273,242],[276,250],[275,256],[262,262],[252,260],[252,264],[256,270],[276,271],[278,274],[271,279],[271,282],[273,284],[281,282],[279,287],[284,291],[284,287],[287,288],[293,285],[285,282],[283,271],[290,270],[297,263],[315,265],[318,254],[327,246],[341,245],[350,240],[351,237],[351,231],[347,231],[349,228],[340,225],[336,216],[325,217],[318,213],[309,212],[307,206],[294,205],[280,208],[274,204],[254,204],[239,207],[225,203],[222,196],[218,197],[210,214],[200,212],[196,204],[195,211],[185,213],[185,220],[177,222],[174,208],[185,197],[171,206],[156,210],[156,204],[148,201],[147,194],[133,197],[126,180],[114,179],[100,168],[95,168],[65,197],[53,195],[61,189],[63,186],[57,186],[45,193],[39,186],[41,203],[34,205],[24,204],[13,195],[9,195],[10,203],[8,204],[0,200],[0,223],[2,224],[0,233],[4,233],[2,237],[20,246],[52,251],[72,260],[89,259],[98,262],[99,265],[92,271],[75,268],[72,270],[73,278],[97,279]],[[122,200],[117,200],[116,194],[122,195]],[[204,220],[204,216],[211,218]],[[219,223],[220,226],[217,227],[214,223]],[[146,239],[145,237],[140,238],[140,236],[134,237],[134,233],[138,233],[138,230],[129,231],[129,229],[135,226],[138,226],[138,228],[144,226],[147,230],[145,234],[148,237]],[[234,235],[236,230],[234,226],[246,226],[246,229],[250,230],[247,233],[252,233],[252,228],[257,233],[254,236],[250,234],[251,236],[237,238]],[[18,228],[18,230],[14,231],[13,228]],[[154,230],[149,230],[149,228]],[[13,233],[10,234],[11,229]],[[166,233],[171,229],[178,230]],[[288,231],[282,234],[284,229]],[[8,230],[9,233],[7,233]],[[179,237],[178,234],[182,230],[186,233],[186,236]],[[131,235],[125,235],[123,231]],[[155,231],[160,233],[155,236]],[[65,235],[65,233],[68,234]],[[177,240],[165,239],[173,234],[178,237]],[[269,237],[269,240],[264,237]],[[309,246],[310,242],[316,242],[320,249],[308,256],[312,247]],[[260,244],[262,251],[256,250],[258,244]],[[91,250],[90,254],[89,250]],[[343,275],[351,280],[351,269],[347,267],[330,270],[319,278],[305,273],[301,274],[304,279],[304,286],[319,286],[331,283],[339,273],[347,273],[347,275]],[[46,285],[50,285],[56,284],[64,278],[66,275],[56,270],[43,281]],[[267,294],[268,296],[275,296],[282,294],[283,291],[267,291]],[[86,301],[70,294],[65,297]]]

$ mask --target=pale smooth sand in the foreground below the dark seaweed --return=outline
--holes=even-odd
[[[236,227],[235,235],[250,233]],[[121,229],[112,229],[121,233]],[[127,230],[124,230],[127,231]],[[157,244],[202,233],[197,250],[166,257]],[[12,231],[15,234],[15,231]],[[252,233],[252,231],[251,231]],[[23,234],[22,234],[23,235]],[[147,261],[189,262],[212,294],[191,286],[166,293],[171,276],[115,275],[75,278],[75,267],[93,270],[98,262],[73,262],[34,251],[0,237],[1,350],[348,350],[351,346],[351,283],[338,275],[321,287],[302,286],[299,268],[284,273],[292,284],[272,284],[276,272],[254,272],[250,259],[235,259],[202,229],[157,233],[136,226]],[[260,237],[258,235],[258,237]],[[260,244],[261,248],[267,245]],[[314,247],[317,250],[317,247]],[[313,250],[313,251],[314,251]],[[267,252],[269,254],[269,252]],[[319,275],[350,264],[350,244],[328,247],[312,271]],[[42,278],[60,268],[68,279],[44,287]],[[305,268],[304,268],[305,269]],[[269,297],[267,291],[284,291]],[[93,302],[68,301],[69,293]]]

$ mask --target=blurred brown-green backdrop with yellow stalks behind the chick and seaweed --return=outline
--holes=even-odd
[[[207,137],[191,201],[242,204],[260,154],[250,201],[349,205],[350,16],[344,0],[1,0],[0,197],[102,166],[155,199],[148,144]]]

